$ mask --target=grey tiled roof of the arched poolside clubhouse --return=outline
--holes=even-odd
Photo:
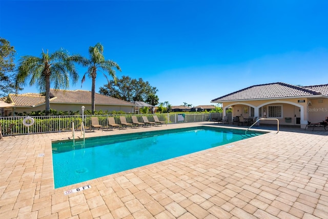
[[[328,97],[328,84],[314,86],[295,86],[282,82],[259,84],[216,98],[212,100],[212,102],[290,98],[314,95],[324,95]]]

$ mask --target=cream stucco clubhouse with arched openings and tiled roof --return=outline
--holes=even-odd
[[[305,128],[308,121],[320,122],[328,116],[328,84],[259,84],[218,97],[211,102],[222,103],[223,115],[231,107],[233,117],[277,118],[279,124]],[[277,122],[263,120],[261,123]]]

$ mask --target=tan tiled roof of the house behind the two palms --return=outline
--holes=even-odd
[[[44,104],[44,94],[9,94],[9,100],[15,106],[35,106]],[[91,104],[91,92],[90,91],[64,91],[50,89],[50,103],[89,103]],[[95,93],[95,104],[101,105],[131,105],[134,104],[125,100],[101,95]]]

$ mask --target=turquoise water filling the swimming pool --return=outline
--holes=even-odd
[[[264,134],[193,127],[52,143],[55,188]]]

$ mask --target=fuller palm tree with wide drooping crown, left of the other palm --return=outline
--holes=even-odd
[[[52,54],[42,50],[41,57],[22,56],[19,59],[15,84],[16,87],[25,85],[30,79],[30,86],[36,84],[40,93],[45,92],[46,115],[49,115],[50,84],[53,84],[54,89],[67,89],[70,77],[73,84],[77,82],[78,74],[67,50],[60,49]]]

